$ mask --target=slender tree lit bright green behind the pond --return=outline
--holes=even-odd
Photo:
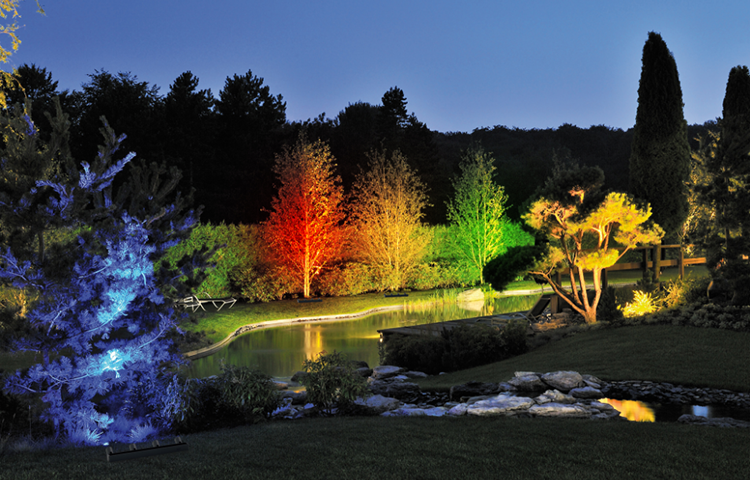
[[[480,283],[485,265],[504,247],[507,197],[494,181],[494,162],[481,147],[470,149],[461,161],[461,176],[453,182],[455,197],[448,202],[453,247],[477,271]]]

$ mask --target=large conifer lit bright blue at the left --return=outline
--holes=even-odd
[[[164,294],[182,293],[179,279],[192,266],[181,262],[180,272],[154,265],[196,223],[179,194],[172,196],[175,170],[165,180],[161,167],[131,165],[129,180],[114,188],[135,154],[115,160],[125,136],[102,120],[105,142],[91,164],[74,162],[65,142],[38,145],[33,123],[18,114],[5,119],[0,152],[8,171],[22,168],[11,158],[22,145],[45,152],[40,162],[49,167],[21,194],[20,185],[0,185],[0,222],[33,219],[26,230],[38,230],[39,248],[13,235],[3,242],[0,278],[38,295],[27,315],[34,334],[17,346],[44,352],[42,364],[11,375],[6,388],[41,394],[43,419],[85,444],[137,442],[170,428],[180,407],[172,368],[180,357],[166,338],[176,314]],[[52,123],[53,139],[65,137],[67,117],[58,111]],[[23,233],[23,222],[16,223]],[[43,229],[66,232],[68,240],[43,248]]]

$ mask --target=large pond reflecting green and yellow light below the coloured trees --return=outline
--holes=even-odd
[[[376,313],[359,319],[295,324],[256,330],[241,335],[225,348],[208,357],[193,360],[188,374],[204,378],[220,373],[221,362],[257,368],[273,377],[284,378],[302,370],[305,359],[320,352],[343,352],[352,360],[363,360],[371,367],[380,364],[378,330],[423,323],[479,317],[492,313],[527,311],[539,295],[489,299],[484,304],[462,308],[411,305],[404,310]],[[464,306],[468,307],[468,306]]]

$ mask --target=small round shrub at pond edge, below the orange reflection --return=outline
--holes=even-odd
[[[302,367],[307,399],[324,412],[331,413],[334,405],[346,408],[368,392],[365,379],[343,353],[321,352],[315,360],[305,360]]]

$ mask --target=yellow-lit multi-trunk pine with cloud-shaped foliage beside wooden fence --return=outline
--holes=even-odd
[[[664,231],[648,222],[649,206],[639,206],[624,193],[603,198],[599,188],[603,174],[598,168],[556,167],[541,198],[524,220],[545,233],[550,241],[544,258],[532,275],[543,278],[586,323],[596,322],[596,307],[602,293],[602,270],[614,265],[638,245],[661,241]],[[557,282],[556,273],[569,269],[570,290]],[[584,273],[592,274],[594,295],[589,298]]]

